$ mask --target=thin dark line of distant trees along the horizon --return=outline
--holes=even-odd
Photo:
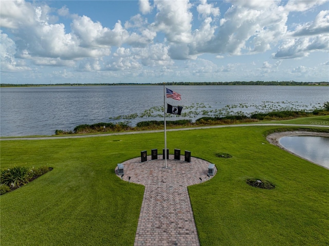
[[[296,82],[296,81],[233,81],[233,82],[165,82],[165,83],[61,83],[61,84],[7,84],[0,87],[42,87],[42,86],[118,86],[118,85],[257,85],[257,86],[329,86],[329,82]]]

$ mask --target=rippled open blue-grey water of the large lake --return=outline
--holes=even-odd
[[[172,105],[302,105],[309,109],[329,101],[329,86],[167,86],[182,96]],[[80,124],[109,122],[109,117],[141,113],[163,106],[163,86],[45,86],[1,88],[0,136],[53,135]],[[294,107],[295,107],[294,106]],[[183,110],[185,110],[183,108]],[[254,107],[236,110],[253,112]],[[136,121],[148,119],[136,119]],[[157,119],[153,119],[157,120]],[[195,119],[194,119],[195,120]]]

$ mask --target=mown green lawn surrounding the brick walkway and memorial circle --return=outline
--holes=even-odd
[[[218,169],[189,187],[202,246],[329,244],[329,170],[268,144],[264,133],[274,128],[167,133],[171,154],[190,150]],[[163,133],[2,141],[1,168],[53,170],[1,196],[1,245],[133,245],[144,187],[121,181],[114,169],[152,148],[163,148]],[[251,187],[247,178],[276,188]]]

